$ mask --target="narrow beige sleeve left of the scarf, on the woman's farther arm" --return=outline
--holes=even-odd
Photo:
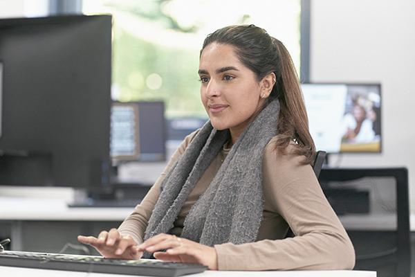
[[[190,141],[196,136],[197,132],[199,132],[199,130],[196,130],[185,137],[181,145],[178,146],[177,150],[172,155],[172,158],[170,158],[165,170],[163,170],[160,177],[158,177],[157,181],[149,189],[147,195],[145,195],[140,204],[136,206],[133,213],[131,213],[131,215],[129,215],[118,227],[118,231],[122,235],[131,235],[133,240],[137,243],[142,242],[151,213],[153,212],[158,196],[160,195],[160,186],[163,183],[167,172],[169,172],[172,166],[174,166],[174,163],[180,159],[181,155],[185,152],[187,145],[189,145]]]

